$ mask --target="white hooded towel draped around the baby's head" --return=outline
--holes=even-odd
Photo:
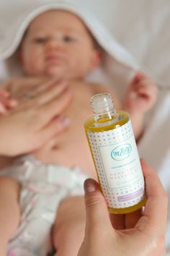
[[[81,17],[81,20],[84,21],[100,46],[104,49],[102,67],[91,73],[89,77],[87,77],[88,80],[106,82],[106,84],[109,85],[116,84],[115,89],[117,89],[117,91],[123,91],[121,85],[123,83],[125,85],[128,84],[131,75],[136,69],[140,69],[138,61],[128,50],[118,43],[107,28],[104,27],[94,15],[91,15],[90,12],[86,12],[86,9],[82,8],[80,4],[73,4],[70,1],[46,1],[45,4],[42,4],[42,1],[37,0],[33,3],[30,1],[30,4],[27,4],[26,7],[20,3],[20,5],[18,5],[20,12],[14,12],[14,9],[10,8],[11,7],[7,10],[10,15],[4,17],[5,21],[0,27],[0,61],[5,70],[5,72],[1,74],[1,80],[4,80],[6,75],[9,77],[19,74],[18,64],[13,54],[22,40],[22,35],[27,29],[27,25],[34,20],[38,14],[54,8],[65,9]],[[4,13],[2,9],[0,9],[0,15],[1,12],[3,17]]]

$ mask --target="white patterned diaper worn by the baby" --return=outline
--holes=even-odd
[[[8,256],[45,256],[50,248],[50,229],[61,200],[84,195],[80,168],[46,165],[32,156],[20,158],[1,171],[21,184],[21,221],[9,242]]]

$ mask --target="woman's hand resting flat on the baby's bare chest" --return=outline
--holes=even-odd
[[[4,138],[2,154],[14,156],[37,150],[68,127],[68,119],[63,114],[72,98],[68,83],[58,82],[57,86],[53,86],[55,81],[48,83],[49,86],[33,98],[0,117]],[[10,127],[10,133],[6,127]]]

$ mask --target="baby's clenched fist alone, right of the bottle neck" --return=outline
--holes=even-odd
[[[158,89],[151,77],[138,72],[130,83],[123,108],[131,112],[140,111],[144,113],[153,107],[157,94]]]

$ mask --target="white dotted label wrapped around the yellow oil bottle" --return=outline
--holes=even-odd
[[[144,197],[144,179],[131,122],[87,135],[108,207],[138,204]]]

